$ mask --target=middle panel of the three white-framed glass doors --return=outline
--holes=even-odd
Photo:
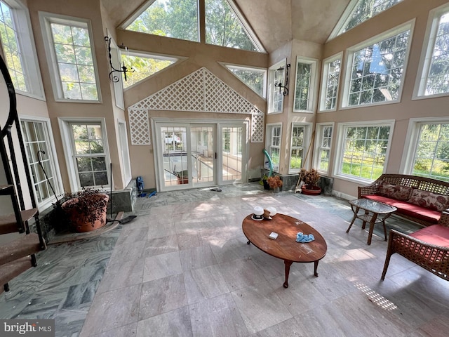
[[[215,126],[192,124],[190,126],[190,160],[194,187],[216,183]]]

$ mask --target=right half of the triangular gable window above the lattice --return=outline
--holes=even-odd
[[[206,44],[263,51],[239,14],[232,1],[206,0]]]

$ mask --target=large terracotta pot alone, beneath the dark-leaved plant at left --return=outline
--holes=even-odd
[[[109,195],[107,194],[98,194],[95,197],[105,199],[105,206],[102,207],[100,211],[98,211],[98,217],[95,221],[91,222],[83,216],[83,213],[77,211],[76,206],[67,209],[67,204],[76,204],[79,202],[78,198],[70,199],[65,201],[61,206],[62,209],[67,212],[67,216],[69,217],[70,223],[72,225],[72,230],[75,232],[90,232],[91,230],[98,230],[98,228],[106,225],[106,213],[107,213],[107,201],[109,200]],[[95,210],[92,209],[94,212]]]

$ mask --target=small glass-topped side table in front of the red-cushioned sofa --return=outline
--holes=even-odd
[[[352,218],[351,224],[346,232],[349,232],[356,219],[363,221],[362,230],[365,229],[366,223],[369,223],[370,230],[368,232],[368,242],[366,243],[371,244],[374,225],[376,223],[382,223],[384,225],[385,241],[387,241],[387,227],[385,226],[385,219],[391,216],[391,213],[396,211],[396,207],[366,198],[351,200],[349,201],[349,204],[351,205],[352,212],[354,213],[354,218]]]

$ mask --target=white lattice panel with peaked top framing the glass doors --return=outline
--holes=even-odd
[[[251,114],[251,142],[263,142],[264,113],[204,67],[128,107],[129,114],[138,112],[137,122],[130,126],[131,141],[136,141],[133,145],[150,143],[148,116],[146,124],[140,124],[140,112],[147,110]]]

